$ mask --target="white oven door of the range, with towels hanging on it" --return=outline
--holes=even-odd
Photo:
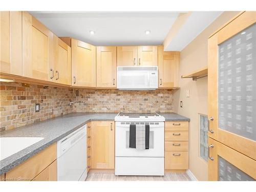
[[[129,147],[130,122],[116,122],[116,157],[164,157],[164,122],[148,123],[150,124],[150,148],[148,150],[136,150],[136,148]]]

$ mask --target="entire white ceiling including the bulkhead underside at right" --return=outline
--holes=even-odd
[[[163,45],[180,14],[187,13],[179,30],[164,44],[165,51],[181,51],[222,12],[49,12],[31,11],[57,36],[69,36],[95,46]],[[151,33],[146,35],[145,31]],[[95,34],[90,34],[95,31]]]

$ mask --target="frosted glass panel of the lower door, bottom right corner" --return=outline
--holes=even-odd
[[[222,157],[219,158],[219,181],[255,181],[238,167],[232,165]]]

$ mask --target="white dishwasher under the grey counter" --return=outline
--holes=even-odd
[[[57,142],[57,180],[84,181],[87,177],[86,125]]]

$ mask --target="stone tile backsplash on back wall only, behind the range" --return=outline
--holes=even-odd
[[[173,91],[79,90],[76,112],[172,112]]]

